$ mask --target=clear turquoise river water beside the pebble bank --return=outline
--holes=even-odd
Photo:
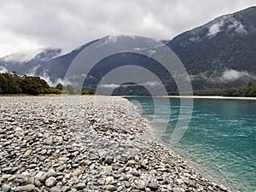
[[[169,121],[162,137],[167,143],[180,110],[188,110],[180,107],[178,98],[171,98],[170,119],[159,114],[155,117],[152,98],[128,99],[139,102],[143,115],[159,122],[159,126]],[[159,103],[156,108],[162,108],[164,114],[166,106]],[[188,129],[175,150],[203,174],[228,184],[234,191],[256,191],[256,101],[194,99]]]

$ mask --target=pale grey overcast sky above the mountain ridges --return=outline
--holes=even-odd
[[[0,57],[107,35],[172,39],[255,0],[0,0]]]

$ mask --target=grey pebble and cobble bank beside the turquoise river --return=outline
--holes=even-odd
[[[70,98],[0,97],[0,191],[227,191],[150,136],[131,102]]]

